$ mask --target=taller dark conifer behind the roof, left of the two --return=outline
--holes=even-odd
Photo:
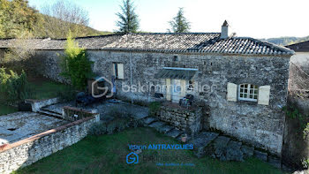
[[[123,5],[120,6],[121,12],[116,15],[119,18],[117,32],[122,34],[137,33],[139,29],[139,17],[135,13],[135,7],[131,0],[124,0]]]

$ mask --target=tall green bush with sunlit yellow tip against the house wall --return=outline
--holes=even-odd
[[[61,57],[62,73],[66,79],[70,79],[72,86],[80,90],[87,87],[87,79],[93,76],[91,65],[93,62],[87,59],[85,49],[79,48],[79,43],[72,39],[69,34],[64,50],[64,56]]]

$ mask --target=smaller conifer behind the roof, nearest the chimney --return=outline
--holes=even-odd
[[[173,18],[170,22],[171,30],[168,29],[168,32],[173,33],[185,33],[189,32],[190,30],[190,22],[185,19],[184,16],[184,8],[179,8],[179,11],[177,12],[177,16]]]

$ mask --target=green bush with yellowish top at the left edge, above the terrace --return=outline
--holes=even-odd
[[[26,79],[26,73],[9,71],[6,72],[5,68],[0,68],[0,93],[4,100],[8,103],[15,103],[25,100],[30,96],[30,87]]]

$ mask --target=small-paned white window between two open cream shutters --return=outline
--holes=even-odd
[[[259,87],[251,84],[241,84],[238,88],[238,100],[241,101],[258,101]]]

